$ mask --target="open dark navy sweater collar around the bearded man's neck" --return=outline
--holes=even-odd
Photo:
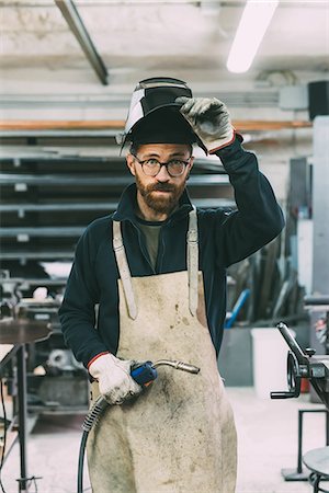
[[[115,221],[123,221],[123,220],[131,220],[132,222],[137,222],[136,220],[136,204],[137,204],[137,187],[136,183],[132,183],[128,185],[120,199],[117,209],[115,213],[113,213],[113,220]],[[184,188],[184,192],[180,198],[179,207],[175,209],[175,211],[169,216],[169,218],[163,221],[164,223],[169,223],[171,221],[175,221],[184,216],[186,216],[192,210],[192,203],[189,197],[189,193],[186,188]]]

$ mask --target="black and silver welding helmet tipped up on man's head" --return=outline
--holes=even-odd
[[[140,81],[133,93],[124,134],[118,144],[193,144],[197,137],[181,115],[179,96],[192,98],[185,82],[170,77]]]

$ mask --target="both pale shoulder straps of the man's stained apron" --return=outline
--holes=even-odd
[[[196,209],[193,206],[189,215],[188,231],[188,272],[189,272],[189,306],[192,316],[196,314],[197,309],[197,276],[198,276],[198,242],[197,242],[197,217]],[[113,221],[113,249],[116,257],[120,277],[125,293],[126,303],[131,319],[137,318],[137,305],[135,301],[132,275],[128,261],[123,244],[121,222]]]

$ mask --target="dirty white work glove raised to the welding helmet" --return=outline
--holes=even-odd
[[[175,99],[182,103],[181,114],[191,125],[194,134],[203,142],[209,153],[228,146],[235,139],[226,105],[216,98],[184,98]]]

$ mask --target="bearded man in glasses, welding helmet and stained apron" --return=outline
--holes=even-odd
[[[217,368],[226,268],[283,228],[272,187],[225,104],[180,80],[141,81],[125,142],[135,183],[80,239],[60,308],[66,343],[109,401],[88,440],[94,493],[234,493],[236,429]],[[196,209],[185,188],[193,146],[215,153],[237,210]],[[218,163],[219,163],[218,159]],[[99,306],[95,320],[95,306]],[[182,360],[141,389],[134,362]]]

